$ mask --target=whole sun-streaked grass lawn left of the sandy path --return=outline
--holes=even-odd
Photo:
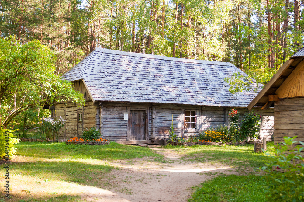
[[[17,156],[9,165],[12,177],[10,194],[14,198],[10,201],[18,202],[82,201],[77,193],[63,194],[61,191],[78,189],[76,187],[79,186],[100,189],[112,187],[109,180],[115,176],[110,171],[119,168],[111,163],[119,160],[139,158],[164,162],[163,155],[149,148],[115,142],[108,145],[20,142],[16,148]],[[41,192],[43,189],[44,192]],[[20,196],[27,199],[20,199]],[[0,201],[3,200],[1,196]]]

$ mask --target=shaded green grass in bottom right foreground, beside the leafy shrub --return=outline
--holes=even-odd
[[[266,202],[264,176],[219,176],[196,186],[188,202]]]

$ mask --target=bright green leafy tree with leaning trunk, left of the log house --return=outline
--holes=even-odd
[[[55,56],[39,41],[0,39],[0,118],[6,127],[19,113],[55,102],[84,103],[71,82],[54,74]]]

